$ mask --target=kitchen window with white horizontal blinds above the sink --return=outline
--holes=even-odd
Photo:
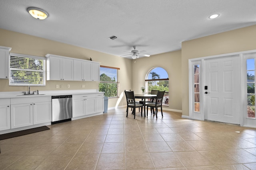
[[[45,57],[10,53],[9,85],[45,86]]]

